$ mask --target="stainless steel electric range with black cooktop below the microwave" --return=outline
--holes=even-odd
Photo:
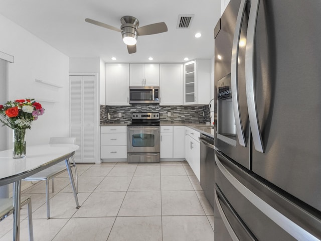
[[[159,113],[131,113],[127,125],[127,162],[159,162]]]

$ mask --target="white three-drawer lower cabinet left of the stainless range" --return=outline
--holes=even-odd
[[[125,126],[100,128],[100,158],[127,158],[127,129]]]

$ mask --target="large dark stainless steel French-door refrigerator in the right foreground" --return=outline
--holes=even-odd
[[[215,241],[321,240],[320,23],[320,0],[231,0],[215,27]]]

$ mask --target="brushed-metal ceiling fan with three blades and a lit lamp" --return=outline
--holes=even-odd
[[[139,21],[132,16],[124,16],[120,19],[120,29],[92,19],[85,19],[85,21],[87,23],[95,24],[106,29],[121,32],[122,40],[127,45],[129,54],[136,53],[137,36],[167,32],[167,26],[164,22],[149,24],[138,28]]]

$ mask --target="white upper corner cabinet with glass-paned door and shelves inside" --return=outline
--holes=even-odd
[[[211,60],[184,64],[184,104],[208,104],[211,99]]]

